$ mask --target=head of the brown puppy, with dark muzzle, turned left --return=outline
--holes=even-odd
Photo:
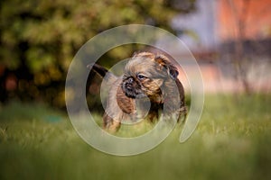
[[[162,94],[164,81],[174,81],[178,74],[164,55],[142,52],[127,62],[121,86],[131,98],[157,96]]]

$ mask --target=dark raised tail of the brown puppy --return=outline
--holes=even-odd
[[[96,63],[91,63],[87,66],[89,69],[93,69],[102,78],[106,78],[107,82],[113,83],[117,80],[117,76],[107,70],[107,68],[102,67]]]

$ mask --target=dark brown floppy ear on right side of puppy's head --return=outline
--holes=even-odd
[[[168,75],[174,80],[179,75],[177,67],[173,66],[169,58],[165,57],[164,55],[156,55],[154,61],[159,64],[160,69],[165,68]]]

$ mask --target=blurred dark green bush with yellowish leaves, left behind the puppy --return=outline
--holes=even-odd
[[[187,3],[194,1],[183,1]],[[21,99],[45,99],[61,107],[65,104],[62,94],[70,61],[87,40],[101,31],[129,23],[173,31],[173,16],[187,12],[175,7],[180,3],[174,0],[3,0],[0,4],[0,67],[12,70],[17,84],[17,92],[7,88],[1,99],[21,94]],[[115,50],[105,58],[127,58],[132,50]],[[47,95],[48,88],[59,94]],[[59,100],[55,100],[56,96]]]

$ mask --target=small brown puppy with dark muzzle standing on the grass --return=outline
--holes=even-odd
[[[115,76],[98,64],[88,67],[105,77],[109,86],[104,129],[116,132],[123,121],[145,118],[145,113],[153,122],[158,120],[161,110],[166,111],[164,117],[175,113],[178,121],[181,114],[185,119],[187,110],[183,86],[177,77],[179,72],[164,54],[135,53],[127,61],[123,76]]]

